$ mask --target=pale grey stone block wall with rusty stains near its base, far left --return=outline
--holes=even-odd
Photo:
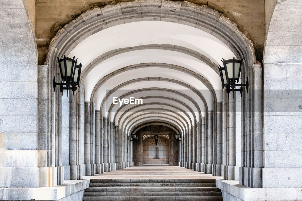
[[[34,34],[21,0],[0,10],[0,187],[39,187]]]

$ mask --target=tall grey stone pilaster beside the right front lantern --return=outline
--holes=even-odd
[[[247,72],[249,77],[249,93],[243,94],[243,100],[246,100],[245,101],[246,105],[242,105],[241,107],[241,112],[246,113],[246,116],[243,116],[241,121],[241,126],[242,126],[241,144],[242,144],[243,154],[241,155],[241,167],[239,168],[239,183],[246,187],[254,187],[254,188],[261,188],[261,187],[287,188],[289,186],[271,185],[272,183],[275,183],[276,181],[275,179],[277,178],[276,176],[279,175],[279,173],[276,175],[274,174],[274,172],[283,172],[284,169],[278,171],[274,167],[273,169],[268,168],[267,169],[268,171],[265,173],[262,172],[265,169],[263,168],[264,167],[263,140],[265,138],[263,137],[264,123],[263,123],[263,116],[262,116],[263,104],[264,104],[262,101],[263,100],[262,67],[261,65],[253,65],[248,68]],[[268,92],[271,91],[274,90],[268,90]],[[286,97],[287,96],[288,94],[286,95]],[[267,100],[269,100],[270,94],[267,94],[267,97],[268,97]],[[278,98],[278,95],[277,97],[272,97],[272,100],[276,100],[276,98]],[[270,102],[268,101],[268,103]],[[273,107],[275,107],[275,105]],[[285,108],[287,107],[288,107],[288,102],[286,103]],[[279,115],[280,113],[277,114]],[[271,126],[271,124],[267,124],[267,125]],[[275,133],[273,134],[273,136],[274,135]],[[280,133],[280,135],[282,134]],[[282,145],[281,148],[283,148],[283,146],[284,145]],[[279,153],[277,153],[277,155],[279,155]],[[267,179],[267,183],[269,183],[269,185],[262,184],[263,178]],[[286,178],[291,178],[291,177],[289,176]]]

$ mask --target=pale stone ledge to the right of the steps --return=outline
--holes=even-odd
[[[221,177],[220,177],[221,178]],[[216,180],[217,188],[244,201],[287,201],[301,200],[302,188],[251,188],[235,180]]]

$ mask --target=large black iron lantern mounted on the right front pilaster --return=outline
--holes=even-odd
[[[243,58],[244,59],[244,58]],[[230,91],[233,91],[233,98],[234,98],[234,91],[240,91],[241,97],[243,92],[243,87],[246,87],[246,93],[248,93],[249,89],[249,81],[246,78],[246,84],[239,84],[239,77],[240,71],[242,66],[242,61],[235,59],[228,59],[228,60],[221,60],[223,62],[223,67],[219,65],[219,73],[222,83],[222,88],[226,87],[226,93],[229,94]],[[237,89],[236,87],[240,87]]]

